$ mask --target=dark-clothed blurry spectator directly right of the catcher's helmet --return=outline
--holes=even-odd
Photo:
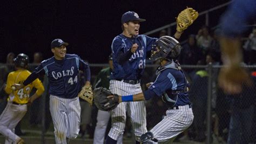
[[[203,58],[203,53],[196,45],[196,35],[191,34],[188,36],[187,42],[181,49],[179,62],[180,64],[197,65],[197,62]],[[184,69],[188,74],[190,80],[193,78],[196,71],[194,69]]]

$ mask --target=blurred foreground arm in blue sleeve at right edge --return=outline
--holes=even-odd
[[[240,67],[242,62],[240,36],[247,30],[248,24],[256,20],[256,1],[232,1],[220,19],[221,54],[226,67],[220,69],[219,85],[228,93],[237,94],[242,91],[242,83],[252,85],[247,71]],[[240,8],[240,9],[237,9]]]

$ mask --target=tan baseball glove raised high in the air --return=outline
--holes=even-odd
[[[181,11],[176,19],[177,21],[177,31],[183,32],[190,26],[198,17],[198,12],[192,8],[186,8]]]

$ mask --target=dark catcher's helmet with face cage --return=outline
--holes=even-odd
[[[170,37],[170,36],[163,36],[160,37],[156,41],[156,45],[153,45],[151,51],[151,60],[159,60],[159,59],[175,59],[180,54],[181,46],[179,41]]]

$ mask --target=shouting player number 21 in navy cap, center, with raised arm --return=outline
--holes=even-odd
[[[142,92],[140,77],[143,75],[146,63],[146,52],[152,50],[152,45],[157,38],[139,35],[140,22],[133,11],[125,12],[122,16],[122,34],[117,35],[112,41],[112,55],[114,69],[110,76],[112,93],[118,95],[135,95]],[[177,31],[174,37],[179,39],[183,31]],[[143,101],[120,103],[111,110],[112,127],[107,136],[106,143],[116,143],[124,133],[126,112],[130,115],[136,143],[139,136],[146,133],[146,109]]]

